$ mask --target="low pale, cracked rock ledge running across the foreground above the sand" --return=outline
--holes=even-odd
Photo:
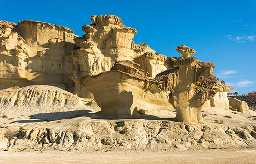
[[[58,126],[56,126],[58,124]],[[126,130],[126,131],[124,131]],[[0,149],[35,150],[199,150],[251,147],[256,144],[256,126],[196,125],[161,120],[67,120],[43,122],[20,128],[1,128]],[[24,151],[24,150],[22,150]]]

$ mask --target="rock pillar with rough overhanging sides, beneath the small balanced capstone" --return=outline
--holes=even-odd
[[[218,79],[212,75],[214,63],[195,59],[194,56],[176,58],[176,67],[155,77],[160,90],[171,91],[169,102],[180,122],[203,123],[202,105],[218,91]]]

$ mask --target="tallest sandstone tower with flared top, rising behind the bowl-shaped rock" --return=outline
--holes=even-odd
[[[72,52],[75,70],[72,79],[79,79],[85,75],[96,75],[109,71],[116,61],[133,60],[136,57],[154,50],[146,44],[135,44],[132,41],[137,31],[123,25],[122,20],[114,15],[91,16],[93,23],[85,25],[82,30],[83,37],[75,38],[79,47]],[[80,92],[80,82],[76,83],[75,92]],[[77,87],[79,86],[79,87]],[[83,92],[86,89],[83,89]],[[83,97],[90,97],[87,93]]]

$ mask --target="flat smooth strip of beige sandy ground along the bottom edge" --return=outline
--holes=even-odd
[[[0,164],[256,164],[256,150],[182,152],[0,152]]]

